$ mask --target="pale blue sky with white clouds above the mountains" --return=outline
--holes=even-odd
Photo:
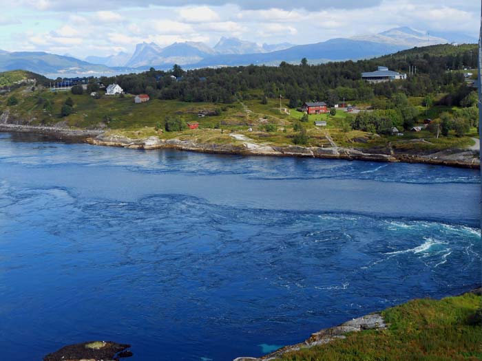
[[[307,44],[410,26],[478,37],[478,0],[0,0],[0,50],[78,58],[221,36]]]

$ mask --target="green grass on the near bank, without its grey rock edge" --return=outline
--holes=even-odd
[[[286,353],[280,360],[482,360],[480,318],[474,322],[481,300],[473,294],[412,300],[382,312],[389,323],[386,330],[350,333],[344,340]]]

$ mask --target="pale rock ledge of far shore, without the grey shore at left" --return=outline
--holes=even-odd
[[[373,152],[357,149],[332,147],[304,147],[304,146],[270,146],[253,142],[238,144],[197,143],[192,140],[161,140],[152,136],[145,139],[131,139],[119,135],[100,134],[87,138],[89,144],[102,146],[121,146],[130,149],[162,149],[171,148],[182,151],[197,151],[201,153],[242,154],[242,155],[271,155],[284,157],[315,157],[338,160],[366,160],[370,162],[406,162],[439,164],[463,168],[480,168],[479,152],[468,149],[449,149],[426,155],[412,155],[408,153]],[[388,154],[387,154],[388,153]]]

